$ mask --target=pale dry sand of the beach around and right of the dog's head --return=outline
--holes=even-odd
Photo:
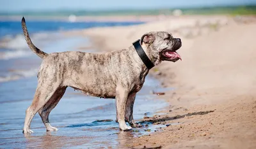
[[[132,27],[72,32],[90,36],[98,50],[120,50],[149,31],[182,39],[182,61],[150,70],[165,87],[172,106],[146,118],[175,124],[140,138],[122,139],[122,148],[256,148],[256,22],[232,18],[179,17]],[[81,47],[80,47],[81,48]],[[125,141],[126,140],[126,141]]]

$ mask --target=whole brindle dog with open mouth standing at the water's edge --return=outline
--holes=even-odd
[[[29,48],[42,58],[38,70],[38,85],[32,104],[26,110],[23,133],[28,134],[32,118],[38,112],[47,131],[57,131],[49,122],[51,110],[58,104],[67,87],[81,90],[87,95],[116,99],[116,122],[121,131],[140,127],[133,119],[133,104],[140,91],[148,67],[143,63],[134,46],[108,53],[60,52],[45,53],[29,38],[25,18],[22,29]],[[176,62],[181,59],[175,52],[180,48],[180,38],[168,32],[147,32],[140,45],[148,59],[157,66],[163,60]],[[127,126],[128,122],[130,126]]]

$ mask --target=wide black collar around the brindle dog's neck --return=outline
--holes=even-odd
[[[150,59],[148,59],[147,54],[144,52],[143,48],[140,45],[140,39],[138,39],[137,41],[135,41],[134,43],[132,43],[132,45],[134,46],[136,52],[138,53],[138,55],[140,56],[140,59],[143,61],[143,63],[145,64],[145,66],[147,66],[148,69],[151,69],[152,67],[154,67],[153,62],[151,62]]]

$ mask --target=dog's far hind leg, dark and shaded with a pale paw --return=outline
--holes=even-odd
[[[55,106],[59,103],[61,97],[65,94],[67,87],[62,87],[57,89],[54,94],[51,96],[49,101],[41,108],[38,113],[44,122],[46,127],[46,131],[58,131],[56,127],[52,127],[49,122],[49,114],[55,108]]]

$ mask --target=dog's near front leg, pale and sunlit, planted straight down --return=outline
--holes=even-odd
[[[122,86],[116,87],[116,114],[118,119],[119,128],[122,131],[132,129],[132,127],[125,124],[125,105],[127,102],[128,91]]]

